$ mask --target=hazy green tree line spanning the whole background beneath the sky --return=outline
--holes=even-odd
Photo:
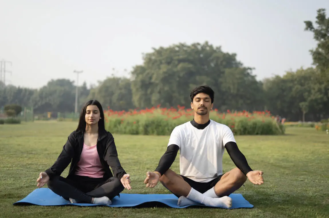
[[[300,68],[258,81],[252,67],[236,54],[222,51],[207,41],[153,48],[136,65],[130,78],[111,76],[88,88],[79,87],[79,108],[88,99],[98,99],[104,109],[190,107],[190,90],[209,85],[215,91],[214,106],[226,110],[269,110],[288,121],[317,121],[329,117],[329,17],[317,11],[316,24],[304,21],[317,41],[310,50],[314,67]],[[0,108],[8,104],[33,107],[36,113],[72,112],[75,85],[67,79],[51,80],[40,89],[0,83]]]

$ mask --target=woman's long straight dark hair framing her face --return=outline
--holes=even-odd
[[[86,123],[86,120],[85,120],[85,115],[86,115],[87,106],[89,106],[89,105],[96,105],[97,108],[99,109],[99,112],[100,112],[100,115],[101,115],[100,117],[102,119],[99,119],[99,121],[98,121],[98,132],[100,132],[100,131],[102,131],[102,132],[106,131],[105,130],[105,121],[104,121],[103,107],[102,107],[101,103],[99,103],[99,101],[97,101],[97,100],[89,100],[88,102],[86,102],[86,104],[81,109],[77,131],[81,131],[81,132],[85,132],[86,131],[86,125],[87,125],[87,123]]]

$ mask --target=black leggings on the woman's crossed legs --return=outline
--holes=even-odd
[[[70,179],[56,176],[48,183],[54,193],[65,200],[72,198],[79,203],[92,203],[92,198],[106,196],[113,199],[123,191],[124,187],[116,177],[104,181],[102,178],[90,178],[86,176],[73,176]]]

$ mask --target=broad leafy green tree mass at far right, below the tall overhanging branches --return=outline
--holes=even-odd
[[[264,80],[266,108],[274,114],[285,116],[287,120],[319,120],[328,116],[328,88],[315,68],[300,68],[288,71],[282,77]],[[301,102],[307,109],[301,110]],[[308,112],[308,116],[306,116]]]

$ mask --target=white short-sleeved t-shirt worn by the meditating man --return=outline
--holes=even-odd
[[[181,175],[196,182],[209,182],[223,174],[224,146],[230,141],[236,142],[224,124],[210,120],[206,128],[197,129],[189,121],[174,128],[168,146],[179,146]]]

